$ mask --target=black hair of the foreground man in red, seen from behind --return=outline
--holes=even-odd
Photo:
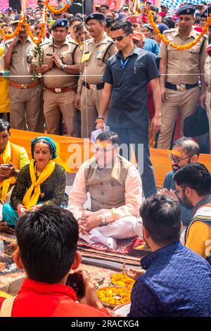
[[[42,206],[25,213],[15,226],[21,260],[31,280],[58,283],[75,258],[79,227],[72,213]]]

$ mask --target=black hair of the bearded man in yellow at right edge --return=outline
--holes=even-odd
[[[202,163],[189,163],[177,170],[174,174],[174,182],[181,187],[190,187],[198,196],[210,194],[211,176]]]

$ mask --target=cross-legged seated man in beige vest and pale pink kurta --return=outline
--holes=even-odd
[[[96,154],[83,163],[75,177],[68,209],[78,220],[80,237],[115,249],[115,239],[136,235],[142,200],[141,177],[135,166],[119,155],[114,132],[102,132]],[[87,192],[91,211],[84,210]]]

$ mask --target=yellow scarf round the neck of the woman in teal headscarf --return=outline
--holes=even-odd
[[[23,205],[30,209],[32,206],[36,206],[37,201],[39,199],[39,195],[41,193],[40,191],[40,185],[51,176],[51,173],[53,173],[53,170],[55,168],[55,162],[49,162],[48,165],[46,165],[46,168],[42,171],[41,175],[38,179],[36,179],[36,175],[34,172],[34,160],[30,162],[30,177],[32,180],[32,185],[27,190],[24,198],[23,198]],[[34,193],[32,194],[34,190]]]

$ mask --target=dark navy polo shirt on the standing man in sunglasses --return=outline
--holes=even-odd
[[[103,75],[103,82],[113,85],[107,121],[111,127],[146,126],[147,84],[160,77],[150,52],[134,46],[127,59],[121,51],[111,56]]]

